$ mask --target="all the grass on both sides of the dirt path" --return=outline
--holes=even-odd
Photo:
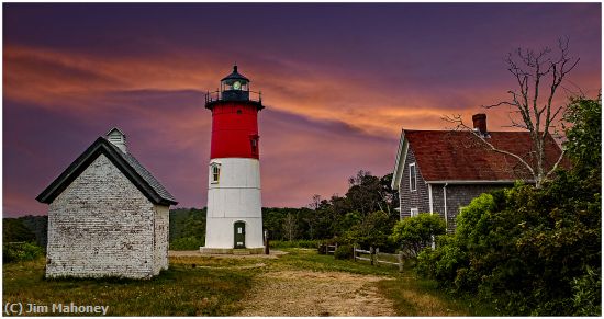
[[[289,253],[279,259],[172,257],[170,269],[149,281],[44,280],[44,259],[4,264],[3,299],[107,305],[110,316],[233,316],[258,274],[306,270],[383,276],[378,289],[392,300],[398,316],[497,315],[470,298],[446,295],[434,282],[415,278],[409,267],[399,273],[393,265],[335,260],[311,249],[286,250]]]

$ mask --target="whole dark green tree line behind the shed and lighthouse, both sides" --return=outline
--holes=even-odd
[[[385,242],[399,220],[396,190],[392,174],[374,176],[360,170],[348,179],[344,196],[313,195],[305,207],[262,207],[262,224],[271,240],[337,239]],[[3,242],[32,242],[46,247],[47,216],[3,219]],[[190,250],[204,246],[206,208],[170,209],[170,249]],[[381,232],[380,232],[381,231]],[[357,240],[358,241],[358,240]]]

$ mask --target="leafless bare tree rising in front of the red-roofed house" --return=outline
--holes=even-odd
[[[511,125],[507,127],[517,127],[528,130],[533,143],[532,157],[534,162],[525,160],[521,155],[516,155],[504,149],[496,148],[489,136],[481,134],[466,125],[461,115],[445,116],[444,119],[457,125],[457,129],[472,132],[489,149],[495,152],[511,156],[525,166],[535,180],[537,187],[547,180],[558,168],[564,151],[556,163],[548,170],[546,167],[545,146],[547,138],[561,137],[562,114],[566,105],[555,105],[555,96],[562,84],[567,75],[574,69],[579,58],[569,56],[568,38],[558,41],[559,54],[553,56],[551,48],[545,47],[539,52],[532,49],[517,48],[510,53],[505,62],[507,70],[514,76],[518,86],[515,90],[510,90],[511,99],[491,105],[482,105],[484,109],[508,106],[511,109],[508,117]],[[545,87],[545,92],[541,88]]]

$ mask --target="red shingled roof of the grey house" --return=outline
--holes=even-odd
[[[489,132],[489,135],[490,138],[486,140],[495,148],[515,153],[529,163],[535,162],[528,132]],[[471,132],[403,129],[395,173],[404,167],[407,149],[413,151],[420,172],[426,182],[476,181],[478,183],[533,179],[528,169],[516,158],[491,150]],[[560,152],[553,138],[548,136],[546,168],[553,167]],[[564,160],[562,164],[569,163]],[[398,178],[400,180],[400,176]]]

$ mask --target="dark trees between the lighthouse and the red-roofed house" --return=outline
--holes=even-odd
[[[339,239],[391,228],[399,220],[399,193],[390,187],[392,174],[374,176],[360,170],[348,179],[348,191],[329,198],[313,195],[301,208],[262,208],[262,221],[273,240]]]

